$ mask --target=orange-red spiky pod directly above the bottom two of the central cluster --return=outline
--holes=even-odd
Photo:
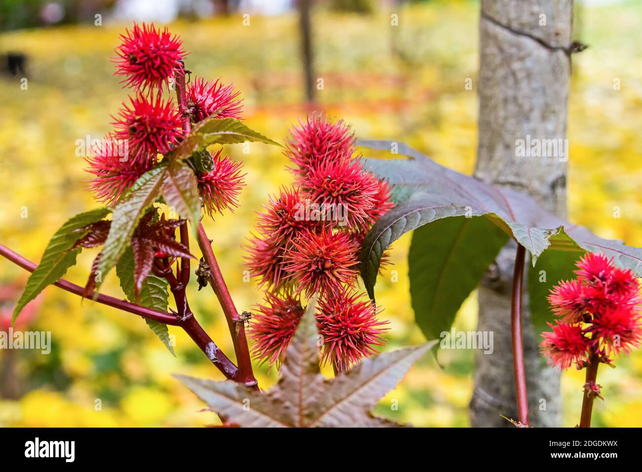
[[[334,296],[351,285],[357,276],[356,246],[347,233],[333,233],[324,228],[318,233],[308,232],[292,240],[291,249],[284,252],[284,270],[297,292],[306,296],[320,292]]]

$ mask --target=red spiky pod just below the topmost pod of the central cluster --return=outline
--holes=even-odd
[[[370,223],[368,212],[374,208],[379,184],[358,160],[322,162],[297,181],[302,197],[334,215],[339,226],[358,229]]]

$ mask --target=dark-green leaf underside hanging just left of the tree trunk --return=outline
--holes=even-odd
[[[410,296],[427,339],[450,330],[459,307],[507,242],[508,235],[484,217],[438,219],[413,232]]]

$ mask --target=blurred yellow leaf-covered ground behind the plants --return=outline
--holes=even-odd
[[[478,4],[431,2],[370,15],[315,12],[315,75],[324,79],[318,110],[343,118],[356,135],[403,140],[440,164],[471,173],[476,154]],[[582,6],[575,38],[589,49],[573,57],[569,101],[569,218],[602,237],[642,246],[642,5]],[[302,104],[298,20],[288,13],[240,15],[169,25],[181,35],[187,68],[234,83],[245,99],[248,126],[282,142],[308,108]],[[84,189],[88,174],[75,155],[76,140],[110,131],[110,114],[126,99],[109,58],[130,24],[62,26],[0,35],[2,51],[28,56],[28,89],[19,77],[0,78],[0,242],[37,262],[49,237],[72,215],[97,207]],[[620,89],[614,89],[614,80]],[[227,152],[242,160],[247,186],[234,214],[205,227],[239,310],[261,301],[256,283],[243,283],[243,240],[268,194],[291,182],[286,158],[252,144]],[[28,217],[21,217],[26,207]],[[620,217],[616,217],[619,208]],[[386,349],[424,341],[413,323],[406,255],[410,235],[396,242],[377,284],[377,301],[390,319]],[[196,244],[193,244],[196,248]],[[95,251],[85,250],[66,278],[83,284]],[[397,271],[398,282],[392,282]],[[26,273],[0,259],[0,282]],[[232,353],[227,325],[214,295],[189,287],[190,305],[223,351]],[[103,292],[122,296],[116,274]],[[455,321],[476,325],[476,297]],[[171,378],[184,373],[222,380],[181,330],[172,357],[142,319],[49,287],[30,329],[51,331],[49,355],[13,353],[22,396],[0,398],[0,426],[202,426],[218,424],[204,404]],[[6,362],[0,351],[0,364]],[[424,358],[377,407],[377,414],[417,426],[467,426],[473,351],[443,351],[440,364]],[[619,358],[598,382],[594,425],[642,425],[642,353]],[[257,367],[263,389],[277,373]],[[563,376],[564,425],[579,418],[583,373]],[[399,409],[390,405],[398,400]],[[96,400],[101,409],[96,410]]]

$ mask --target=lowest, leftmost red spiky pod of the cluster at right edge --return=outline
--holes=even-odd
[[[568,369],[573,363],[582,365],[588,357],[591,339],[584,335],[580,325],[555,323],[548,323],[553,332],[542,333],[544,341],[539,345],[542,354],[549,358],[548,364],[560,369]]]

